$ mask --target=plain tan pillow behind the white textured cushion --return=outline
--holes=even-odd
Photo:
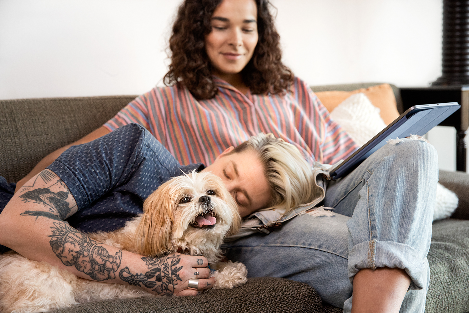
[[[371,86],[368,88],[361,88],[351,92],[344,91],[327,91],[315,92],[319,100],[326,107],[329,112],[337,107],[343,100],[347,99],[355,93],[363,92],[375,107],[379,107],[381,118],[388,125],[399,117],[397,111],[396,98],[394,97],[393,88],[389,84],[382,84]]]

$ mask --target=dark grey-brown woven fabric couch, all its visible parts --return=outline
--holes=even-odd
[[[370,84],[312,87],[354,90]],[[400,112],[399,89],[393,86]],[[8,182],[25,176],[46,154],[97,129],[135,96],[0,100],[0,175]],[[440,171],[440,183],[459,197],[449,219],[433,223],[428,260],[430,288],[425,312],[469,312],[469,175]],[[105,300],[57,312],[342,312],[324,304],[316,291],[287,279],[250,278],[233,290],[198,297]]]

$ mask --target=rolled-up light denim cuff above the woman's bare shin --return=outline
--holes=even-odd
[[[360,269],[378,267],[397,267],[405,270],[411,279],[409,290],[427,287],[427,258],[422,258],[422,254],[408,244],[371,240],[354,245],[348,253],[350,282],[353,282],[354,276]]]

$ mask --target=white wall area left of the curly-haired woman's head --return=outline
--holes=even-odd
[[[147,92],[177,4],[0,0],[0,99]]]

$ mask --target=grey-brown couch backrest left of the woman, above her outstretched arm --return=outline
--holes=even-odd
[[[17,182],[47,154],[97,129],[135,97],[0,100],[0,176]]]

